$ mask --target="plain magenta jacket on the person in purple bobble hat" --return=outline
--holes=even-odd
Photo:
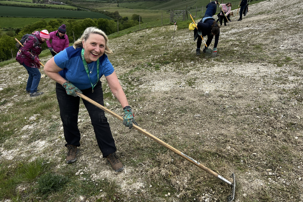
[[[56,53],[59,53],[60,51],[66,49],[70,42],[68,41],[68,36],[66,34],[63,37],[59,37],[57,36],[57,32],[58,30],[49,33],[49,40],[46,41],[46,44],[47,47],[52,47]],[[52,44],[50,40],[52,40]]]

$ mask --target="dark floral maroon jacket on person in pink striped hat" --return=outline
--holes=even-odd
[[[39,58],[41,53],[40,45],[43,44],[40,37],[39,31],[34,31],[32,35],[38,38],[37,40],[33,36],[29,36],[23,44],[23,47],[19,49],[16,55],[16,60],[22,65],[24,63],[26,66],[31,68],[38,68],[37,64],[34,62],[33,57]]]

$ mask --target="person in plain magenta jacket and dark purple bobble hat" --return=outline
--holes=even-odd
[[[48,49],[51,51],[52,56],[55,56],[60,51],[66,49],[70,42],[66,35],[66,25],[61,25],[57,31],[49,33],[49,41],[46,42]]]

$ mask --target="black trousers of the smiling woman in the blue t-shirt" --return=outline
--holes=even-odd
[[[92,88],[81,91],[83,95],[104,106],[101,81],[99,81],[94,87],[94,92],[92,92]],[[80,97],[67,95],[65,88],[59,83],[56,83],[56,94],[60,109],[60,116],[63,123],[64,137],[66,140],[65,146],[72,144],[79,147],[81,137],[78,129]],[[91,118],[97,143],[103,157],[114,153],[117,148],[115,146],[115,140],[111,134],[111,129],[109,127],[109,123],[107,122],[107,118],[105,117],[104,111],[84,99],[82,99],[82,101]]]

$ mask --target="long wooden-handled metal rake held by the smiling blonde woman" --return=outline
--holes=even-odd
[[[100,105],[99,103],[93,101],[92,99],[88,98],[87,96],[76,92],[76,94],[81,97],[82,99],[92,103],[93,105],[99,107],[100,109],[106,111],[107,113],[111,114],[112,116],[116,117],[117,119],[123,121],[123,118],[119,115],[117,115],[115,112],[107,109],[106,107]],[[178,154],[179,156],[181,156],[182,158],[188,160],[189,162],[191,162],[192,164],[196,165],[197,167],[201,168],[202,170],[208,172],[210,175],[218,178],[219,180],[225,182],[226,184],[230,185],[232,187],[232,193],[227,197],[228,202],[233,201],[234,197],[235,197],[235,188],[236,188],[236,181],[235,181],[235,175],[234,173],[232,173],[231,178],[233,178],[233,182],[228,181],[227,179],[225,179],[224,177],[220,176],[218,173],[210,170],[209,168],[207,168],[206,166],[202,165],[201,163],[197,162],[196,160],[192,159],[191,157],[187,156],[186,154],[180,152],[178,149],[175,149],[174,147],[170,146],[169,144],[163,142],[161,139],[153,136],[152,134],[146,132],[145,130],[143,130],[142,128],[140,128],[139,126],[133,124],[133,128],[138,130],[139,132],[141,132],[142,134],[146,135],[147,137],[153,139],[154,141],[156,141],[157,143],[161,144],[162,146],[168,148],[169,150],[171,150],[172,152]]]

